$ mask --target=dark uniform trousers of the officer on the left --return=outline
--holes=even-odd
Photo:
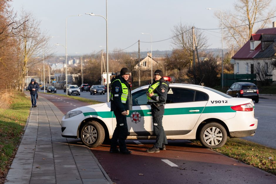
[[[125,143],[125,140],[127,138],[127,116],[124,116],[119,112],[118,110],[114,111],[115,117],[116,117],[116,128],[113,132],[113,136],[111,138],[111,144],[110,149],[115,150],[117,149],[117,140],[119,139],[119,148],[120,151],[127,150],[127,145]]]

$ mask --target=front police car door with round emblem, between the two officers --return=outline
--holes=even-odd
[[[129,136],[153,135],[151,107],[147,104],[148,89],[139,90],[132,94],[132,110],[127,116]]]

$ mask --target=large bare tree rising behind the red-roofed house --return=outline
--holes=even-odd
[[[250,39],[252,33],[271,22],[271,19],[267,18],[274,16],[276,12],[276,7],[270,6],[271,1],[238,0],[233,5],[233,12],[230,10],[223,12],[223,27],[227,28],[224,38],[228,40],[229,46],[236,45],[241,48]],[[215,15],[221,24],[221,13],[216,11]],[[264,21],[255,23],[260,20]]]

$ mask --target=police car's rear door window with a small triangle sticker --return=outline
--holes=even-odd
[[[193,102],[194,90],[169,87],[166,103]]]

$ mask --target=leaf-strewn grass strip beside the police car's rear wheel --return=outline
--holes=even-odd
[[[201,145],[199,141],[194,142]],[[212,150],[276,175],[276,149],[240,138],[228,138],[223,147]]]

